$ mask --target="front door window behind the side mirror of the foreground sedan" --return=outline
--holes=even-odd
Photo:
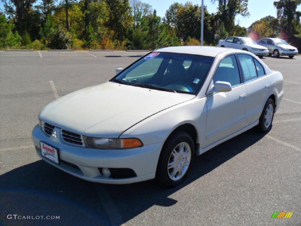
[[[229,82],[231,86],[240,84],[239,70],[234,55],[222,59],[213,77],[213,83],[216,81]]]

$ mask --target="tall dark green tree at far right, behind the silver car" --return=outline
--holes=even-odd
[[[300,32],[301,11],[296,11],[300,4],[301,0],[279,0],[274,2],[277,9],[277,18],[284,36],[290,37]]]

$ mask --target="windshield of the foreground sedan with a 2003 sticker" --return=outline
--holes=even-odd
[[[152,52],[110,81],[175,93],[195,93],[207,77],[213,57]]]

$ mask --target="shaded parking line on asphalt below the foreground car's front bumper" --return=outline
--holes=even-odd
[[[110,196],[110,194],[107,192],[107,189],[100,184],[95,185],[95,189],[98,193],[99,198],[101,199],[101,202],[104,206],[104,209],[107,212],[107,215],[110,218],[112,226],[124,226],[123,220]]]

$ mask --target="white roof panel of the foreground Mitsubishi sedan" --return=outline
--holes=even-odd
[[[154,52],[186,53],[193,55],[216,57],[216,55],[218,55],[219,53],[229,50],[233,49],[214,46],[173,46],[157,49]]]

